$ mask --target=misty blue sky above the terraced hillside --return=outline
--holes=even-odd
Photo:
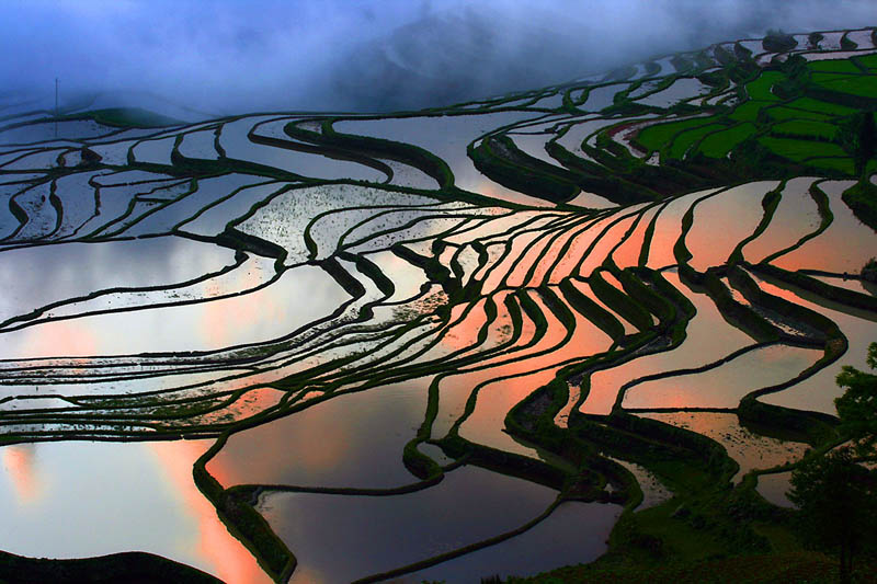
[[[210,113],[440,105],[768,27],[877,24],[872,0],[0,0],[0,93],[148,92]]]

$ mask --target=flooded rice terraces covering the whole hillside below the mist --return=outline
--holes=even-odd
[[[398,113],[53,99],[0,93],[0,582],[874,581],[793,477],[864,444],[877,520],[875,28]]]

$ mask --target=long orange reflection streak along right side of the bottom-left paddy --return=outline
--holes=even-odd
[[[193,551],[213,565],[209,571],[229,584],[269,582],[255,558],[228,533],[216,509],[195,486],[192,466],[204,454],[205,444],[178,442],[148,446],[159,460],[170,489],[182,500],[182,508],[197,524],[198,539]]]

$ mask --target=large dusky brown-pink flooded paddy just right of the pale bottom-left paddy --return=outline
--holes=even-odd
[[[430,381],[339,396],[234,434],[207,471],[225,486],[407,484],[400,453],[422,419]]]

